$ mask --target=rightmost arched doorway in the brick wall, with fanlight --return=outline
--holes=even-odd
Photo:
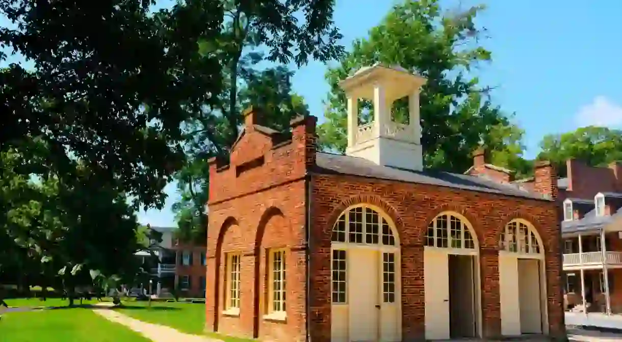
[[[547,332],[542,239],[531,223],[516,219],[499,238],[501,334]]]

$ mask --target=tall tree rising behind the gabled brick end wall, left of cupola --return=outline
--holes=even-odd
[[[201,243],[207,234],[207,160],[228,155],[241,127],[243,108],[259,106],[266,114],[263,124],[289,128],[292,117],[308,110],[293,93],[293,73],[284,65],[304,65],[309,58],[326,61],[343,53],[337,44],[341,35],[332,22],[332,0],[221,2],[225,27],[218,39],[201,40],[199,52],[218,56],[223,87],[213,93],[215,103],[187,108],[193,119],[185,126],[187,163],[177,173],[182,199],[174,206],[180,238]],[[305,14],[302,22],[295,16],[300,12]],[[262,62],[274,65],[262,67]]]

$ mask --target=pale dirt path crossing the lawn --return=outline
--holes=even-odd
[[[173,328],[169,328],[168,326],[135,320],[134,318],[124,315],[123,313],[119,313],[105,307],[95,308],[93,311],[110,321],[120,323],[127,326],[131,330],[136,331],[137,333],[141,333],[141,335],[154,342],[223,342],[214,338],[182,333]]]

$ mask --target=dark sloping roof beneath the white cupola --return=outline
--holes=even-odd
[[[503,184],[484,177],[463,175],[460,173],[438,171],[413,171],[382,166],[360,157],[317,152],[317,173],[340,173],[363,177],[397,180],[407,183],[439,185],[477,192],[498,193],[500,195],[519,196],[545,200],[540,193],[531,192],[514,184]]]

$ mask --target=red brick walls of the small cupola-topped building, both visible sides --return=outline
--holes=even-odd
[[[307,170],[315,163],[314,119],[293,122],[290,143],[276,143],[254,122],[247,116],[246,130],[229,164],[210,160],[207,330],[262,341],[304,341],[309,265],[310,337],[314,342],[330,341],[330,231],[348,205],[365,202],[386,210],[400,234],[404,340],[424,336],[423,237],[429,222],[444,210],[468,218],[480,241],[484,335],[500,334],[498,240],[500,229],[514,218],[530,221],[544,240],[550,332],[555,336],[565,333],[559,282],[560,220],[555,203],[353,176],[309,178]],[[307,182],[313,196],[309,263]],[[539,190],[547,191],[542,184]],[[286,321],[262,317],[266,313],[266,254],[273,247],[288,250]],[[233,317],[223,314],[227,252],[242,254],[240,313]]]

